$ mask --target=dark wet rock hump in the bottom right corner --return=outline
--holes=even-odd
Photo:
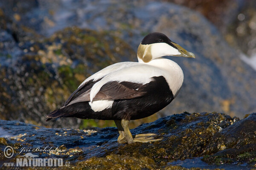
[[[204,156],[204,161],[219,164],[255,162],[256,114],[250,114],[245,119],[223,129],[213,141],[215,144],[211,147],[219,147],[221,150],[213,155]]]

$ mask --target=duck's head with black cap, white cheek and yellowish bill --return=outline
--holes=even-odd
[[[146,35],[137,50],[139,62],[150,62],[163,56],[195,58],[193,53],[172,42],[165,34],[154,32]]]

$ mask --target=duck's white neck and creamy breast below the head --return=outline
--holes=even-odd
[[[176,62],[162,57],[153,59],[150,62],[143,62],[143,60],[139,58],[138,60],[139,63],[152,65],[159,68],[162,71],[162,75],[165,77],[170,89],[172,90],[173,95],[176,96],[178,94],[183,83],[184,75],[182,69]]]

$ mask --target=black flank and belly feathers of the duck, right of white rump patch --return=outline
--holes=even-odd
[[[160,111],[174,99],[163,76],[152,77],[152,81],[143,85],[139,91],[147,93],[141,98],[114,101],[112,106],[114,119],[142,119]]]

